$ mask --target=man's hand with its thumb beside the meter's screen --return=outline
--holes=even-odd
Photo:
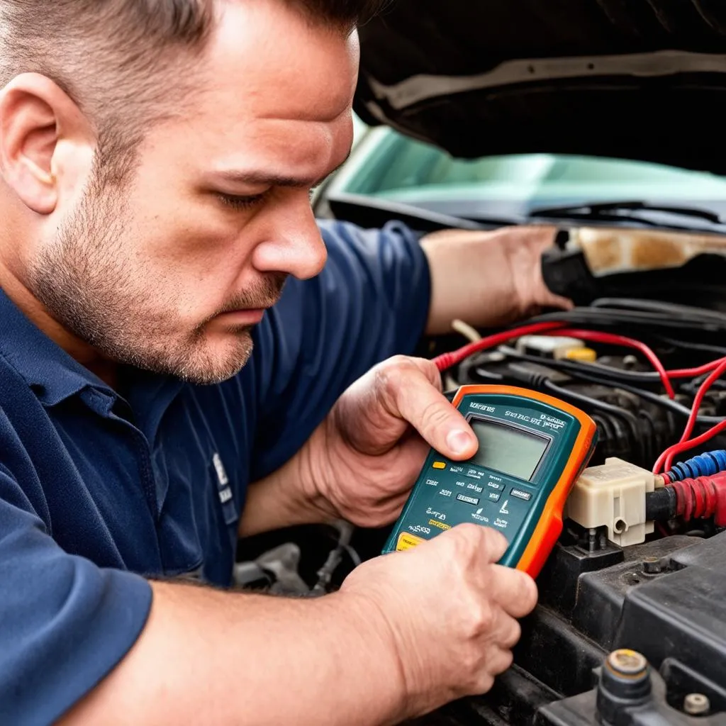
[[[478,441],[441,394],[433,362],[396,356],[340,396],[301,452],[302,481],[330,516],[382,526],[399,515],[431,446],[464,460]]]

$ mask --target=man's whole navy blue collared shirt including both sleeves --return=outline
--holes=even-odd
[[[0,290],[0,722],[54,721],[123,658],[146,577],[231,582],[245,489],[373,364],[410,353],[430,281],[401,224],[321,223],[329,259],[289,280],[231,380],[123,370],[111,390]]]

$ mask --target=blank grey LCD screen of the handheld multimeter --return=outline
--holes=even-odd
[[[479,440],[478,452],[470,463],[526,481],[531,479],[549,439],[493,421],[475,418],[469,423]]]

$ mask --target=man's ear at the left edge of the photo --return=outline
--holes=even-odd
[[[23,204],[38,214],[56,209],[62,176],[77,176],[77,169],[68,168],[73,158],[65,153],[68,142],[85,146],[92,157],[91,126],[60,86],[39,73],[23,73],[2,89],[0,172]],[[81,153],[76,161],[88,156]]]

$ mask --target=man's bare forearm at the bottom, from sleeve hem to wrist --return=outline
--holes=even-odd
[[[134,648],[62,726],[378,726],[406,715],[386,626],[355,596],[152,587]]]

